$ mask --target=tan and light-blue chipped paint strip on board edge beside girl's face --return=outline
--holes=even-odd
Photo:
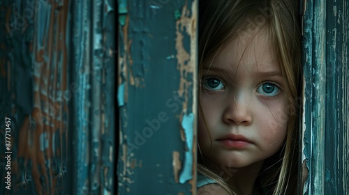
[[[181,113],[181,139],[186,141],[186,152],[184,159],[184,170],[181,173],[179,182],[184,183],[187,180],[191,180],[192,192],[196,193],[196,141],[195,140],[195,116],[191,111],[195,111],[197,107],[196,101],[189,102],[190,98],[196,100],[196,84],[188,81],[188,77],[193,77],[196,81],[197,70],[197,15],[196,13],[198,7],[197,1],[192,1],[191,10],[188,9],[188,1],[184,4],[184,7],[179,10],[175,10],[174,18],[176,22],[176,59],[177,59],[177,69],[180,72],[180,82],[178,94],[180,97],[184,98],[184,103],[182,105]],[[190,44],[189,48],[184,45],[184,38],[189,38]],[[190,53],[188,52],[190,51]],[[188,104],[192,104],[192,108],[188,108]],[[184,132],[183,132],[184,130]],[[185,134],[185,135],[184,135]]]

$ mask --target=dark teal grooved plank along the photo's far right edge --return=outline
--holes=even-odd
[[[325,194],[349,194],[349,4],[327,1]]]

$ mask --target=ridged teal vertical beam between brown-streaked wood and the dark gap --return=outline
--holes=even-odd
[[[114,1],[72,1],[73,194],[114,194]]]

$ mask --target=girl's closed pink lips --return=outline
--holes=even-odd
[[[224,146],[228,148],[244,148],[251,144],[246,137],[240,134],[227,134],[223,137],[216,139],[219,143],[222,143]]]

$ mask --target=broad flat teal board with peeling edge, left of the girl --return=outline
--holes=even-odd
[[[119,194],[195,194],[197,4],[119,9]]]

